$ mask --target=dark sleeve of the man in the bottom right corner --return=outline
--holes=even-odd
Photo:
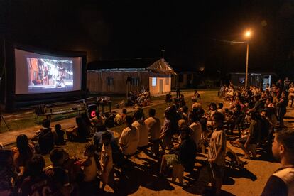
[[[271,175],[261,193],[261,196],[288,195],[288,187],[281,178]]]

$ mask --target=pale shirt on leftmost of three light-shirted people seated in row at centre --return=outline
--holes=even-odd
[[[122,151],[125,155],[136,153],[138,148],[138,129],[134,126],[131,128],[126,127],[121,133],[119,144],[121,145]]]

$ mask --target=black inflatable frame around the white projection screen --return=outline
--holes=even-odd
[[[6,64],[5,64],[5,81],[4,90],[4,104],[6,111],[13,111],[18,106],[32,105],[40,102],[54,102],[54,100],[70,99],[71,97],[85,97],[87,90],[87,53],[82,51],[62,51],[62,50],[45,50],[34,46],[23,45],[20,43],[11,43],[6,41]],[[16,65],[15,65],[15,49],[24,50],[30,53],[37,53],[39,55],[49,55],[53,57],[80,57],[82,58],[81,65],[81,85],[80,90],[73,90],[67,92],[43,92],[31,94],[16,94]]]

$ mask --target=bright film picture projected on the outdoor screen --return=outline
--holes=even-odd
[[[28,92],[73,87],[72,60],[26,58]]]

